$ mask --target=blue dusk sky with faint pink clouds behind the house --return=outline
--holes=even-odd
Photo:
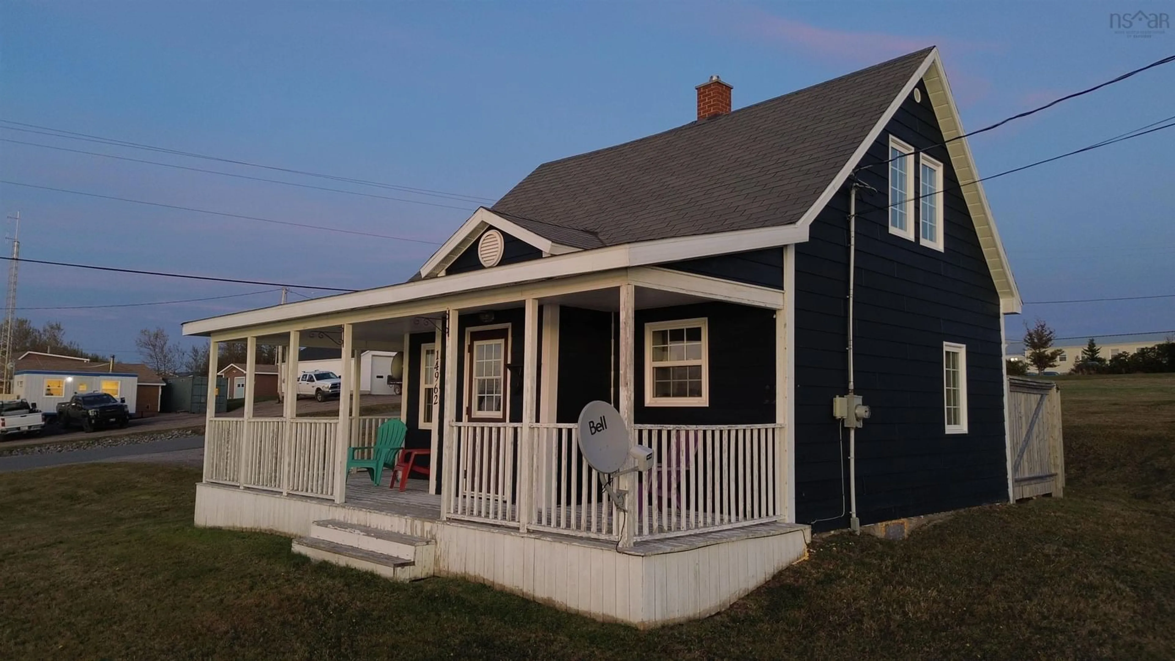
[[[938,45],[967,128],[1175,53],[1082,2],[0,1],[0,119],[496,199],[543,161],[686,123],[718,73],[734,106]],[[1175,5],[1141,2],[1130,11]],[[972,141],[993,174],[1175,115],[1175,64]],[[0,142],[0,179],[443,241],[476,203],[107,145],[0,138],[452,205],[363,198]],[[1026,301],[1175,293],[1175,129],[987,185]],[[22,256],[323,287],[407,279],[434,246],[0,185]],[[8,248],[4,248],[7,251]],[[266,289],[24,265],[20,307]],[[306,291],[313,295],[314,292]],[[296,299],[296,296],[295,296]],[[276,302],[22,311],[134,359],[140,328]],[[1060,335],[1175,329],[1175,299],[1028,305]],[[186,340],[187,341],[187,340]]]

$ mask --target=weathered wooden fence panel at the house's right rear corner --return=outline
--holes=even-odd
[[[1008,378],[1012,498],[1065,492],[1061,390],[1052,381]]]

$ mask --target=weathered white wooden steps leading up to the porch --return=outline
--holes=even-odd
[[[436,557],[431,540],[334,519],[315,521],[310,535],[294,540],[291,550],[397,581],[431,576]]]

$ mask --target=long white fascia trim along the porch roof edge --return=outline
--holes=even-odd
[[[236,339],[297,328],[412,318],[448,308],[590,291],[625,282],[664,291],[678,287],[683,293],[779,308],[783,307],[780,291],[652,268],[652,265],[771,246],[783,247],[806,241],[807,236],[807,226],[784,226],[577,251],[482,271],[188,321],[183,325],[183,334]]]

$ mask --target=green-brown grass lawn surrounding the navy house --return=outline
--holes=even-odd
[[[602,625],[190,525],[196,472],[0,475],[0,659],[1175,656],[1175,375],[1061,379],[1068,488],[810,560],[713,617]]]

